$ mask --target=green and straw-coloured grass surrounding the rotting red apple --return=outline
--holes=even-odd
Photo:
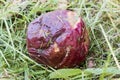
[[[57,1],[0,0],[0,80],[120,80],[120,0],[69,0],[67,9],[83,18],[91,41],[80,68],[55,70],[29,58],[27,26],[41,14],[58,9]],[[91,57],[93,68],[88,67]]]

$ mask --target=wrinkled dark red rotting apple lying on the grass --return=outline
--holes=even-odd
[[[89,38],[83,20],[69,10],[48,12],[27,29],[27,49],[32,59],[53,68],[79,65],[88,53]]]

